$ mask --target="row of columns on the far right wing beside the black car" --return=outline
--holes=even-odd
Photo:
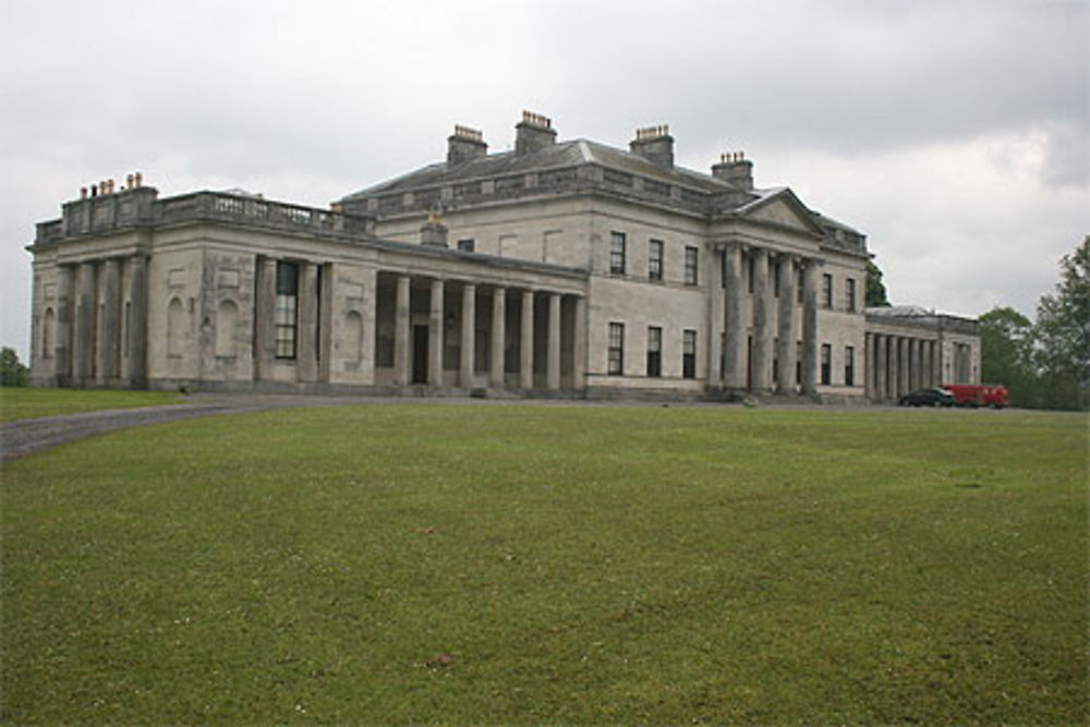
[[[938,341],[897,334],[867,334],[867,398],[896,400],[916,389],[940,386]]]

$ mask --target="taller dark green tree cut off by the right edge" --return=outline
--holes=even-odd
[[[1090,235],[1059,260],[1059,282],[1037,304],[1034,359],[1050,409],[1090,409]]]

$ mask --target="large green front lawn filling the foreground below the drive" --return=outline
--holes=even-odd
[[[1088,717],[1078,415],[281,410],[0,472],[11,722]]]

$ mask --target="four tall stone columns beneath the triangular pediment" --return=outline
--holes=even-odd
[[[751,320],[743,319],[742,306],[743,288],[748,290],[742,272],[747,256],[752,259],[753,271]],[[821,265],[818,258],[801,258],[741,243],[727,243],[714,249],[708,306],[712,331],[708,383],[712,387],[736,391],[749,389],[761,393],[774,388],[794,390],[798,334],[801,334],[802,391],[813,393],[816,390],[818,275]],[[802,326],[797,334],[795,312],[798,307],[799,268],[802,270]],[[778,278],[773,278],[777,272]],[[752,339],[748,334],[750,330]],[[773,362],[776,362],[775,367]]]

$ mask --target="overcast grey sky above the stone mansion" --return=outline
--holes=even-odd
[[[868,234],[893,302],[1032,315],[1090,232],[1088,47],[1090,0],[0,0],[0,342],[26,360],[24,246],[81,185],[326,206],[523,109],[744,150]]]

